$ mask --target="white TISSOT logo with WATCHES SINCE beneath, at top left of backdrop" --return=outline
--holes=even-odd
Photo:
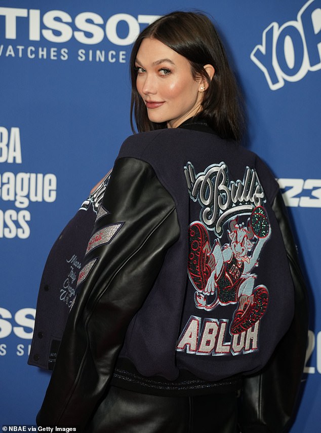
[[[7,42],[0,43],[0,57],[126,63],[127,51],[117,48],[130,46],[157,18],[124,13],[101,16],[94,12],[71,16],[61,10],[0,7],[0,42]],[[89,48],[92,46],[96,47]]]

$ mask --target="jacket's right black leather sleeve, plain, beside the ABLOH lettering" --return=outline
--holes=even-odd
[[[273,211],[282,232],[295,292],[295,312],[290,329],[279,342],[267,366],[244,380],[240,405],[242,433],[288,431],[294,416],[304,367],[308,300],[296,246],[282,195],[277,194]]]

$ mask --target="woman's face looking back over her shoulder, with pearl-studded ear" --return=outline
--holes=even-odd
[[[194,80],[185,57],[157,39],[145,38],[135,65],[137,90],[151,122],[176,128],[202,110],[202,79]]]

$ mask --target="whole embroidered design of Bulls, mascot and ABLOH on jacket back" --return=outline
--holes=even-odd
[[[265,285],[255,286],[257,275],[251,272],[259,266],[261,250],[271,236],[257,173],[246,167],[243,181],[230,181],[224,162],[198,174],[188,162],[184,171],[190,198],[201,208],[200,221],[188,229],[187,272],[195,289],[195,307],[212,313],[202,328],[200,318],[190,316],[176,350],[213,355],[257,350],[269,293]],[[222,307],[227,306],[235,307],[226,310],[223,319]],[[215,318],[218,307],[220,318]],[[248,335],[255,344],[247,343]]]

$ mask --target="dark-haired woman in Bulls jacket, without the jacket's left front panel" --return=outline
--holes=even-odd
[[[277,183],[237,144],[237,89],[213,24],[159,18],[131,73],[140,134],[104,185],[37,423],[284,431],[306,295]]]

